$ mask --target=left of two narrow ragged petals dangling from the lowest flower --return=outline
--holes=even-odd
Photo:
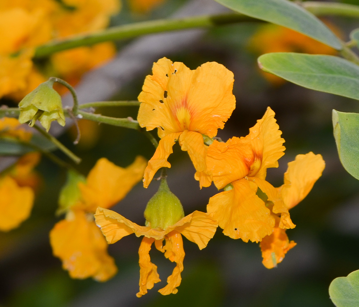
[[[144,237],[138,251],[140,259],[140,291],[136,294],[141,297],[147,293],[147,289],[152,289],[155,283],[160,282],[157,273],[157,266],[151,262],[149,252],[153,243],[153,238]]]

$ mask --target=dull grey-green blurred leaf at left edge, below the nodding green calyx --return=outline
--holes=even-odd
[[[0,155],[23,155],[28,152],[33,152],[34,146],[41,148],[45,152],[56,149],[56,146],[40,134],[34,134],[29,142],[19,143],[13,138],[0,138]]]

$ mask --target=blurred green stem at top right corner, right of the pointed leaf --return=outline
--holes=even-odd
[[[359,17],[359,6],[354,4],[304,1],[301,5],[316,16],[336,15],[343,17]]]

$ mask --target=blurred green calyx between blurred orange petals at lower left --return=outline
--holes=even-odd
[[[59,195],[59,209],[56,214],[60,215],[69,210],[81,199],[81,191],[79,189],[79,182],[86,182],[86,178],[80,173],[69,170],[67,172],[67,180],[62,187]]]

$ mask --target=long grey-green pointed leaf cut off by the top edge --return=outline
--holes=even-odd
[[[339,39],[317,17],[288,0],[216,0],[238,13],[298,31],[337,50]]]

